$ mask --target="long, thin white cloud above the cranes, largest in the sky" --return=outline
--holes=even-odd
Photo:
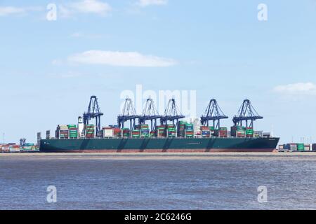
[[[177,64],[176,60],[139,52],[113,52],[89,50],[68,57],[68,62],[79,64],[105,64],[112,66],[166,67]]]

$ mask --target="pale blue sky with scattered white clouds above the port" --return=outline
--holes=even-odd
[[[125,94],[141,108],[141,87],[179,104],[188,92],[195,117],[215,98],[226,127],[247,98],[256,130],[315,143],[315,12],[314,0],[0,1],[0,142],[77,123],[91,95],[114,124]]]

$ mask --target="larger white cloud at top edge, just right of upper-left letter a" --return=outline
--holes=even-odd
[[[62,17],[70,17],[75,13],[95,13],[98,15],[107,15],[112,11],[112,7],[103,1],[82,0],[73,3],[60,5],[59,8]]]

